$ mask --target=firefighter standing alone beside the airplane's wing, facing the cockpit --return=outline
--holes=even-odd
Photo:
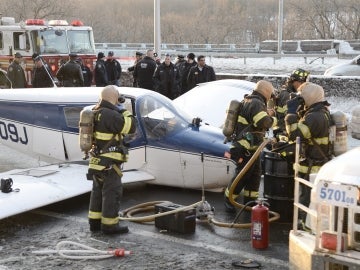
[[[88,217],[90,231],[104,234],[128,232],[127,226],[119,224],[121,165],[128,156],[123,138],[135,132],[136,123],[129,111],[117,107],[119,100],[117,88],[108,85],[94,108],[94,147],[87,175],[93,180],[93,188]]]

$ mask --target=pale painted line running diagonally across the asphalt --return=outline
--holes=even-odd
[[[37,210],[33,210],[31,212],[34,213],[34,214],[38,214],[38,215],[43,215],[43,216],[49,216],[49,217],[54,217],[54,218],[58,218],[58,219],[69,220],[69,221],[72,221],[72,222],[88,223],[88,220],[86,218],[64,215],[64,214],[60,214],[60,213],[56,213],[56,212],[52,212],[52,211],[47,211],[47,210],[37,209]],[[259,255],[259,254],[254,254],[254,253],[246,252],[246,251],[243,251],[243,250],[226,249],[226,248],[221,247],[221,246],[215,246],[215,245],[210,245],[210,244],[206,244],[206,243],[203,243],[203,242],[195,242],[195,241],[192,241],[192,240],[181,239],[181,238],[177,238],[177,237],[174,237],[174,236],[171,236],[171,235],[153,233],[153,232],[140,230],[140,229],[135,229],[135,228],[131,229],[131,233],[137,234],[139,236],[144,236],[144,237],[149,237],[149,238],[154,238],[154,239],[161,239],[161,240],[164,240],[164,241],[167,241],[167,242],[177,243],[177,244],[181,244],[181,245],[185,245],[185,246],[202,248],[202,249],[206,249],[206,250],[210,250],[210,251],[214,251],[214,252],[218,252],[218,253],[228,254],[230,256],[237,256],[239,258],[252,259],[254,261],[258,261],[258,262],[261,262],[261,263],[273,264],[273,265],[278,265],[278,266],[288,266],[289,265],[289,263],[287,261],[284,261],[284,260],[265,257],[265,256],[262,256],[262,255]]]

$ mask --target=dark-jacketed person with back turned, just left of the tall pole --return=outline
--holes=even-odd
[[[153,76],[156,66],[154,51],[148,50],[146,56],[136,64],[134,70],[134,80],[139,87],[154,90]]]

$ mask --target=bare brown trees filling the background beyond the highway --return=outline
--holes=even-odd
[[[96,42],[151,43],[150,0],[1,0],[3,16],[80,19]],[[359,39],[359,0],[284,1],[283,39]],[[163,0],[164,43],[256,43],[276,40],[278,0]]]

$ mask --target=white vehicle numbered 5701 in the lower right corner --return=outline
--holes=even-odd
[[[359,160],[357,147],[322,166],[310,178],[315,180],[309,208],[298,201],[298,183],[303,181],[295,178],[290,269],[360,269]],[[299,208],[308,213],[308,230],[297,228]]]

